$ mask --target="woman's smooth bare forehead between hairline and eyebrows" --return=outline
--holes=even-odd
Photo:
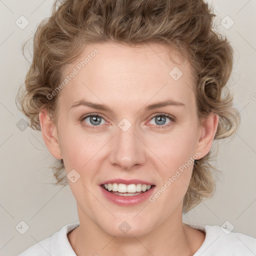
[[[68,107],[82,98],[105,104],[146,103],[163,97],[191,103],[191,72],[190,63],[165,45],[91,43],[65,67],[64,77],[75,74],[61,90],[59,100]]]

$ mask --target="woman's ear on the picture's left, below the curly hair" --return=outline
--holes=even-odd
[[[55,158],[62,159],[57,136],[57,127],[52,122],[45,109],[39,112],[39,121],[41,126],[42,138],[49,152]]]

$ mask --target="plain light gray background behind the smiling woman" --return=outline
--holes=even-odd
[[[234,48],[229,86],[241,114],[241,125],[231,141],[219,142],[214,163],[223,174],[214,197],[184,215],[183,221],[227,223],[229,228],[234,226],[235,232],[256,237],[256,0],[209,2],[218,16],[218,30],[226,34]],[[25,117],[16,108],[14,98],[29,66],[22,56],[21,44],[31,37],[40,20],[50,15],[52,3],[53,0],[0,0],[0,255],[17,255],[63,225],[78,221],[69,186],[47,183],[53,180],[47,166],[54,158],[40,131],[29,127],[21,131],[16,126]],[[29,21],[24,29],[15,24],[21,15]],[[228,29],[221,25],[222,19],[226,26],[231,25],[227,15],[234,21]],[[21,220],[29,226],[23,235],[15,229]]]

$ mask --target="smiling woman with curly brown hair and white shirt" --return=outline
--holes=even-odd
[[[58,159],[79,222],[20,255],[255,250],[245,234],[182,222],[214,193],[213,140],[240,121],[221,93],[233,56],[213,17],[202,0],[54,2],[17,101]]]

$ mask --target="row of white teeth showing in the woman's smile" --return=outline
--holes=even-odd
[[[105,189],[108,191],[119,192],[119,193],[135,193],[140,191],[146,191],[151,188],[151,185],[147,184],[122,184],[122,183],[108,183],[104,184]]]

